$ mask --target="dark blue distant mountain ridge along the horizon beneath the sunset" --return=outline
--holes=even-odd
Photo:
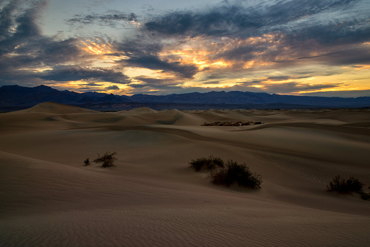
[[[78,93],[59,91],[40,85],[37,87],[21,87],[6,85],[0,87],[1,108],[24,108],[41,102],[57,102],[75,106],[102,103],[184,103],[184,104],[291,104],[322,106],[333,108],[359,108],[370,106],[370,97],[341,98],[267,94],[264,92],[211,91],[205,93],[192,92],[187,94],[149,95],[135,94],[114,95],[98,92]]]

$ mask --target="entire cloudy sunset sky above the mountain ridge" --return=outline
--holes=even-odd
[[[370,96],[369,0],[0,0],[0,86]]]

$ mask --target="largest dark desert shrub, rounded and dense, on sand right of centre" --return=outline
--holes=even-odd
[[[215,185],[230,186],[236,183],[239,186],[260,189],[263,182],[262,176],[252,173],[245,163],[239,164],[233,160],[228,160],[223,168],[212,171],[208,176]]]

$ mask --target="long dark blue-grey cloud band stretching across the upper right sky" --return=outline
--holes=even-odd
[[[257,34],[261,28],[271,28],[307,18],[326,10],[343,7],[353,0],[278,1],[272,5],[243,6],[223,2],[207,11],[175,11],[145,23],[148,31],[162,34],[231,35]]]

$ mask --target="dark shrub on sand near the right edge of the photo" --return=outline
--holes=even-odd
[[[326,189],[328,191],[336,191],[340,194],[351,194],[352,192],[362,191],[363,186],[365,186],[365,184],[354,177],[350,177],[346,180],[340,177],[340,175],[337,175],[329,181],[329,185],[326,186]]]

